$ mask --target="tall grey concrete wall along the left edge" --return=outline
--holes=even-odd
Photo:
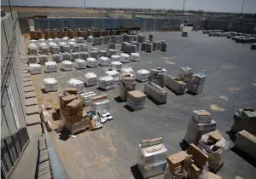
[[[21,36],[19,22],[17,21],[16,28],[14,26],[17,17],[17,13],[13,12],[13,18],[11,14],[6,14],[1,19],[1,70],[2,74],[9,73],[7,84],[3,85],[3,75],[1,77],[3,85],[1,89],[1,138],[9,136],[21,127],[26,126],[24,101],[20,100],[24,97],[22,90],[20,90],[22,89],[22,81],[19,55]],[[14,34],[16,34],[16,43],[11,46]],[[11,51],[14,51],[14,53],[9,53]],[[9,58],[10,54],[13,55]],[[7,64],[10,64],[8,61],[13,61],[10,68],[6,68]]]

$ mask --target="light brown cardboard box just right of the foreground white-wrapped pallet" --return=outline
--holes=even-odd
[[[177,171],[179,170],[178,167],[181,167],[180,170],[183,170],[184,159],[186,156],[189,156],[188,153],[182,151],[167,157],[169,169],[173,175],[177,174]]]

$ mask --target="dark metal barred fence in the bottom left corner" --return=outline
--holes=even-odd
[[[1,139],[1,178],[9,178],[28,142],[26,127]]]

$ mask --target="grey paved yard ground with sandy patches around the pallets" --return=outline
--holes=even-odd
[[[145,34],[148,36],[148,32]],[[167,74],[173,75],[177,75],[179,67],[190,66],[195,72],[207,75],[204,92],[200,95],[175,95],[166,89],[166,104],[158,106],[147,100],[143,110],[130,112],[125,108],[125,102],[115,100],[119,95],[117,84],[115,89],[107,91],[114,119],[104,124],[101,130],[85,131],[75,138],[50,133],[71,178],[141,178],[135,165],[138,144],[142,140],[162,136],[168,155],[181,151],[191,113],[198,109],[212,113],[212,118],[218,122],[218,130],[229,140],[226,132],[233,124],[233,113],[239,108],[256,107],[256,51],[250,49],[250,44],[235,43],[227,38],[210,38],[201,32],[189,32],[187,38],[181,37],[181,32],[153,34],[154,40],[168,42],[167,51],[140,51],[141,61],[125,66],[131,66],[134,71],[161,66],[166,68]],[[32,79],[38,103],[57,105],[55,93],[42,93],[43,78],[56,78],[61,90],[69,78],[83,80],[86,72],[95,72],[101,77],[107,70],[108,67],[98,66],[34,75]],[[143,84],[137,83],[136,89],[143,91]],[[102,94],[95,87],[85,90]],[[233,145],[232,141],[230,145]],[[255,163],[230,150],[218,175],[225,179],[237,175],[253,178],[255,172]]]

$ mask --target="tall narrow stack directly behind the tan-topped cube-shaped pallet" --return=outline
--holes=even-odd
[[[130,73],[121,73],[119,81],[119,97],[122,101],[127,100],[127,93],[135,90],[135,78]]]

